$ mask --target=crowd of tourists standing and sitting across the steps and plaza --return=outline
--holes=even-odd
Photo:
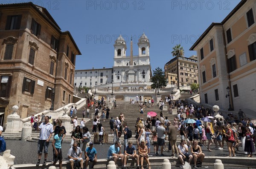
[[[126,166],[129,158],[136,160],[137,166],[143,169],[143,162],[148,164],[150,169],[149,157],[154,155],[166,156],[164,151],[172,152],[172,157],[177,156],[181,164],[184,162],[192,163],[194,168],[202,166],[204,161],[204,153],[202,148],[206,146],[207,151],[212,152],[212,149],[218,149],[221,151],[224,149],[224,145],[227,144],[228,156],[236,156],[236,152],[242,151],[247,154],[248,157],[253,157],[255,152],[255,127],[250,122],[250,119],[245,118],[245,114],[239,110],[239,117],[230,113],[225,119],[214,118],[213,111],[205,109],[203,106],[194,107],[192,104],[187,104],[182,100],[173,101],[171,96],[166,96],[165,100],[160,100],[160,115],[149,116],[146,120],[143,120],[143,114],[145,109],[150,110],[151,106],[154,106],[154,100],[151,98],[149,101],[141,99],[141,96],[137,96],[137,103],[139,106],[138,118],[136,121],[135,138],[136,144],[133,145],[131,138],[131,131],[129,130],[127,123],[125,122],[124,114],[120,113],[118,117],[109,120],[111,132],[113,134],[113,145],[110,146],[107,154],[109,160],[113,160],[115,163],[118,159],[121,159],[122,166]],[[152,102],[153,100],[153,102]],[[93,104],[92,104],[93,102]],[[68,158],[70,159],[70,165],[80,165],[87,169],[88,162],[91,161],[92,167],[97,162],[97,151],[93,147],[91,142],[91,134],[99,132],[99,142],[103,144],[104,127],[100,121],[109,119],[110,109],[105,106],[105,100],[94,99],[87,100],[87,107],[84,108],[84,115],[88,117],[87,110],[94,109],[93,129],[90,132],[88,127],[83,121],[83,118],[78,124],[77,117],[73,117],[74,130],[71,135],[72,141],[70,149],[68,151]],[[131,104],[134,104],[131,101]],[[147,105],[148,104],[148,105]],[[168,112],[172,112],[173,109],[177,109],[177,117],[173,121],[169,120],[167,116],[163,115],[164,104],[169,104]],[[113,101],[113,105],[116,105],[116,101]],[[116,107],[116,106],[114,106]],[[70,114],[76,115],[76,107],[71,108]],[[101,112],[101,115],[98,115]],[[186,119],[197,118],[195,123],[187,123]],[[40,117],[39,117],[40,118]],[[42,117],[43,118],[43,117]],[[66,135],[65,127],[62,126],[62,121],[56,119],[54,125],[49,122],[50,117],[45,116],[44,121],[39,123],[39,120],[35,125],[36,129],[40,131],[38,141],[38,165],[41,161],[42,150],[44,149],[44,163],[47,161],[49,140],[54,134],[53,147],[53,164],[55,165],[59,161],[59,167],[61,169],[62,153],[61,142]],[[120,142],[120,137],[124,137],[124,148]],[[180,142],[177,143],[177,138],[180,137]],[[169,144],[166,145],[168,139]],[[154,145],[154,151],[151,151],[151,144]],[[215,148],[212,148],[212,144],[215,144]],[[81,147],[81,148],[80,148]],[[160,148],[160,149],[159,149]],[[82,159],[82,152],[85,156],[85,164]],[[154,152],[154,153],[153,153]]]

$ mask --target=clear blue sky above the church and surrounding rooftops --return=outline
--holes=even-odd
[[[62,31],[70,31],[82,55],[76,70],[111,68],[113,44],[120,32],[134,38],[133,55],[143,31],[150,41],[151,68],[163,68],[172,59],[172,47],[181,44],[185,57],[196,55],[189,48],[212,23],[221,22],[240,0],[52,0],[34,1],[47,8]]]

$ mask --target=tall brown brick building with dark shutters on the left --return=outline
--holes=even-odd
[[[33,3],[0,5],[0,11],[0,124],[13,105],[26,118],[72,102],[81,53],[70,32]]]

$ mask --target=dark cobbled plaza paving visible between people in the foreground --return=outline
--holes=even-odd
[[[15,161],[14,164],[27,164],[27,163],[36,163],[38,159],[38,154],[37,154],[37,142],[30,142],[30,141],[20,141],[20,140],[6,140],[6,147],[7,149],[11,150],[11,154],[14,155]],[[70,144],[68,143],[63,143],[62,144],[62,155],[64,157],[63,161],[67,161],[67,151],[69,149]],[[81,145],[82,146],[82,145]],[[106,159],[107,158],[107,152],[110,144],[94,144],[94,147],[97,150],[97,156],[98,159]],[[213,147],[212,147],[213,148]],[[154,147],[151,146],[151,154],[154,154]],[[242,147],[240,147],[239,150],[241,150]],[[205,153],[206,156],[221,156],[221,157],[227,157],[228,156],[228,150],[227,146],[224,146],[223,150],[217,150],[217,149],[212,149],[212,152],[207,151],[207,147],[202,147],[203,152]],[[166,156],[170,156],[171,152],[164,152],[163,153]],[[236,153],[237,157],[246,157],[247,155],[244,155],[243,152],[239,151]],[[152,157],[156,157],[153,155]],[[52,146],[50,144],[49,146],[49,155],[47,162],[52,161]],[[83,154],[84,158],[84,154]],[[250,158],[252,159],[252,158]],[[253,158],[254,159],[254,158]],[[44,155],[42,155],[41,163],[44,161]],[[213,165],[208,164],[208,165]],[[213,169],[213,166],[205,166],[209,169]],[[152,167],[153,168],[153,167]],[[157,167],[156,167],[157,168]],[[172,168],[176,168],[175,166],[172,166]],[[204,167],[202,167],[204,168]],[[231,169],[232,167],[230,167]],[[225,167],[225,169],[228,169]]]

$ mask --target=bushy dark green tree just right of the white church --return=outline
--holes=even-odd
[[[163,70],[159,67],[153,70],[153,77],[151,77],[152,89],[157,88],[157,80],[159,80],[159,88],[166,87],[168,82],[166,81],[166,77],[164,75]]]

